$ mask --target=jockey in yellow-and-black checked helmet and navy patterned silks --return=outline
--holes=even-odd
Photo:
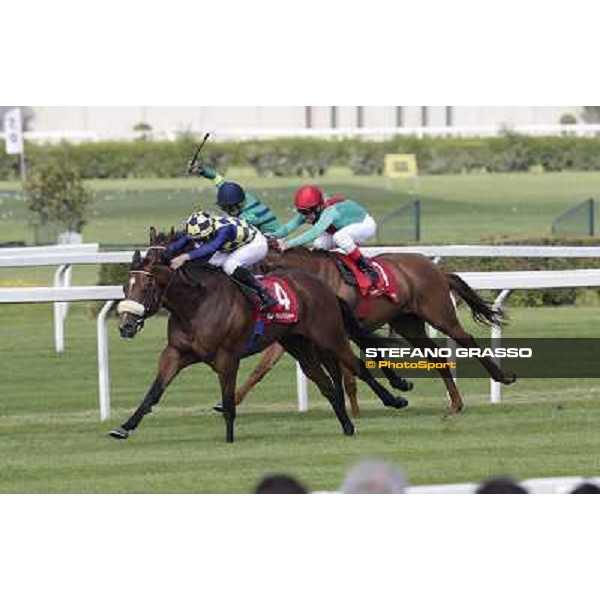
[[[181,254],[190,243],[195,249]],[[265,236],[252,225],[235,217],[214,217],[199,212],[187,220],[185,234],[169,245],[167,257],[175,256],[171,261],[171,268],[175,270],[190,260],[209,259],[209,264],[222,267],[233,280],[256,292],[261,310],[267,310],[275,306],[277,300],[248,269],[263,260],[267,251]]]

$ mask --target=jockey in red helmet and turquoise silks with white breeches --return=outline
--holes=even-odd
[[[375,236],[377,224],[358,202],[343,196],[325,199],[319,188],[306,186],[297,191],[295,206],[298,215],[276,231],[275,237],[286,237],[305,223],[312,227],[292,240],[280,242],[283,250],[303,246],[312,241],[314,247],[319,250],[338,247],[368,275],[372,285],[377,285],[377,271],[357,246]]]

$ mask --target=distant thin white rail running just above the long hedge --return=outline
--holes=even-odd
[[[599,124],[580,123],[576,125],[515,125],[509,130],[511,133],[531,136],[574,136],[594,137],[600,134]],[[346,127],[346,128],[235,128],[214,129],[210,133],[217,141],[224,140],[249,140],[272,138],[366,138],[389,139],[396,136],[403,137],[498,137],[506,134],[507,129],[500,126],[455,126],[455,127]],[[206,132],[192,132],[202,137]],[[182,135],[189,135],[189,131],[165,130],[150,132],[135,131],[28,131],[25,139],[34,143],[60,143],[63,141],[78,143],[103,142],[109,140],[131,141],[145,139],[154,141],[177,140]],[[0,139],[4,133],[0,133]]]

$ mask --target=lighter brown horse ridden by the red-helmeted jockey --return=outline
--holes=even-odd
[[[347,284],[337,266],[335,253],[322,250],[294,248],[284,253],[272,250],[260,266],[261,272],[276,269],[299,269],[310,272],[323,281],[335,294],[344,299],[356,316],[359,310],[359,292]],[[427,335],[425,323],[456,340],[468,348],[477,347],[477,342],[461,326],[451,293],[462,298],[470,307],[473,319],[482,325],[499,325],[502,314],[477,294],[458,275],[446,274],[433,261],[421,254],[383,254],[378,260],[387,263],[400,285],[400,298],[396,304],[385,297],[370,299],[365,318],[361,325],[373,331],[389,324],[399,335],[418,348],[436,348],[437,344]],[[358,341],[358,340],[355,340]],[[358,341],[360,344],[360,341]],[[365,342],[366,344],[367,342]],[[260,365],[249,380],[238,390],[237,401],[243,401],[256,385],[279,360],[282,349],[274,346],[263,357]],[[494,381],[510,385],[516,381],[512,373],[505,373],[489,358],[479,359]],[[450,414],[458,414],[464,405],[449,368],[438,369],[450,398]],[[408,391],[404,380],[394,383],[393,372],[385,373],[398,389]],[[344,374],[346,392],[350,398],[354,416],[360,415],[356,399],[356,382]]]

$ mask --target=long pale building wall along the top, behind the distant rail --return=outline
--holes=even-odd
[[[154,132],[515,127],[581,120],[580,106],[33,106],[34,132],[131,135],[136,124]]]

